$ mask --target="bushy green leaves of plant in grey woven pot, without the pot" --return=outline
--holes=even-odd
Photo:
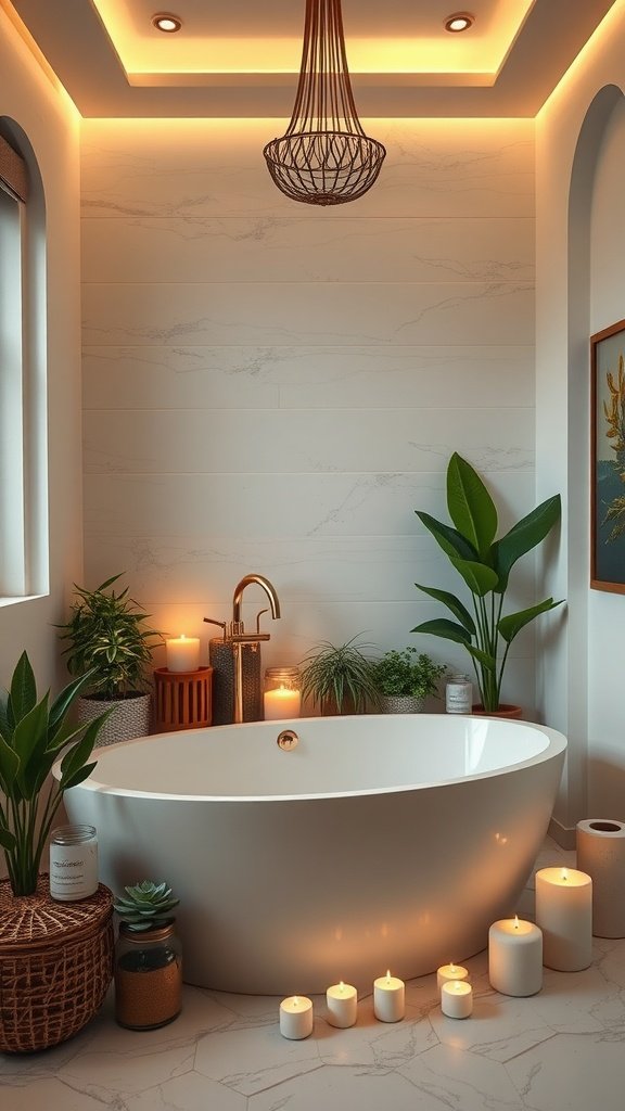
[[[96,590],[76,587],[78,600],[71,607],[61,640],[71,675],[91,671],[90,693],[120,698],[130,691],[146,689],[146,669],[151,663],[152,649],[162,642],[162,633],[143,624],[150,617],[128,597],[128,588],[115,592],[116,574]]]

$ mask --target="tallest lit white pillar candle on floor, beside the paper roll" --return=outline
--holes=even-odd
[[[587,969],[593,959],[593,881],[574,868],[536,872],[536,922],[543,962],[560,972]]]

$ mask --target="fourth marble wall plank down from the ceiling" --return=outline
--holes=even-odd
[[[83,404],[103,409],[359,409],[534,404],[534,349],[86,346]]]

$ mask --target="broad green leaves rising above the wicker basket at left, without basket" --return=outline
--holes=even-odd
[[[54,814],[70,787],[91,774],[89,762],[105,711],[89,724],[75,727],[68,711],[80,691],[92,681],[88,672],[75,679],[50,704],[50,692],[38,700],[30,660],[22,652],[11,687],[0,699],[0,847],[14,895],[37,889],[41,855]],[[65,754],[63,754],[65,753]],[[50,775],[61,760],[60,778]]]

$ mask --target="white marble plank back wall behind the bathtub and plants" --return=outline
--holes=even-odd
[[[414,510],[444,513],[454,450],[504,526],[534,504],[532,121],[370,121],[380,179],[329,210],[272,184],[277,127],[82,132],[86,578],[127,570],[156,623],[208,640],[266,574],[266,663],[416,642],[439,608],[415,580],[454,580]],[[526,705],[533,651],[505,692]]]

